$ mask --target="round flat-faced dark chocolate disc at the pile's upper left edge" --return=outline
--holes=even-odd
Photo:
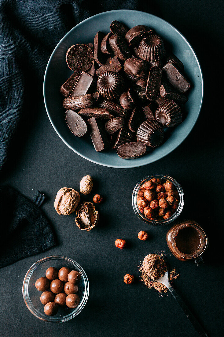
[[[67,50],[65,58],[71,70],[82,72],[91,67],[94,55],[86,44],[78,43]]]

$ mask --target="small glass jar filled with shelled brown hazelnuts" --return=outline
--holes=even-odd
[[[152,175],[141,179],[132,194],[135,214],[150,225],[167,225],[182,212],[184,192],[173,178]]]

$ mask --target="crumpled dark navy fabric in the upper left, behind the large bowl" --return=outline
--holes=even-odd
[[[38,118],[43,101],[44,71],[60,39],[93,14],[135,9],[136,3],[137,0],[96,0],[94,4],[91,0],[0,0],[0,170],[9,155],[20,151],[22,139],[26,141],[29,129],[35,125],[34,116]]]

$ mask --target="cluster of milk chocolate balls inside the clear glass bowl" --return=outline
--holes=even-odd
[[[53,316],[62,308],[76,308],[80,299],[77,295],[81,274],[76,270],[62,267],[59,271],[55,267],[49,267],[46,277],[40,277],[35,282],[37,290],[43,292],[40,302],[44,304],[44,313]],[[49,290],[50,289],[50,290]]]

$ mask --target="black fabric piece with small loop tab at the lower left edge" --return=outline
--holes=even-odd
[[[0,268],[55,245],[50,226],[38,208],[45,199],[37,192],[32,201],[10,186],[0,186]]]

